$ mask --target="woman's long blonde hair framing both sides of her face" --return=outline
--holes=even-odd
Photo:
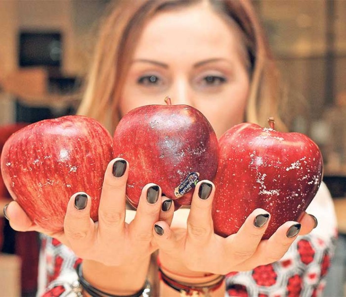
[[[157,11],[191,5],[198,0],[116,1],[104,19],[96,45],[85,96],[78,110],[114,131],[120,113],[118,102],[142,28]],[[250,0],[209,0],[222,17],[227,16],[241,31],[250,61],[251,86],[246,121],[267,126],[274,117],[276,128],[286,130],[280,120],[280,79],[263,29]]]

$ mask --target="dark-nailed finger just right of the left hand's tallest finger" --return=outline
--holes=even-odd
[[[161,209],[161,188],[156,184],[147,184],[143,187],[136,215],[129,226],[132,238],[150,242],[153,238],[152,230],[159,220]]]

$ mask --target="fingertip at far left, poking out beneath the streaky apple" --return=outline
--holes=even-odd
[[[11,201],[3,208],[5,217],[9,220],[12,229],[16,231],[37,231],[40,227],[35,225],[23,208],[16,201]]]

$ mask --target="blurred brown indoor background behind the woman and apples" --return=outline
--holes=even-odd
[[[76,111],[97,23],[108,2],[0,0],[0,149],[20,127],[15,123]],[[322,150],[324,181],[339,223],[325,296],[345,296],[346,0],[256,0],[254,4],[289,98],[308,102],[292,104],[297,115],[289,125]],[[2,208],[8,201],[3,187],[0,197]],[[5,288],[0,296],[34,296],[37,234],[15,233],[1,218],[0,247],[0,288]]]

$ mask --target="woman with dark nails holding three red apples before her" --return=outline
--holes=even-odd
[[[268,116],[274,116],[282,130],[279,114],[284,110],[278,86],[278,74],[250,2],[137,0],[129,5],[120,1],[103,24],[79,113],[114,131],[117,121],[131,109],[163,104],[169,95],[173,104],[199,109],[218,137],[244,120],[264,126]],[[210,213],[215,186],[211,181],[197,184],[191,210],[176,211],[173,222],[172,200],[161,196],[159,185],[147,185],[136,213],[127,211],[130,224],[126,225],[128,170],[123,159],[110,162],[97,224],[90,222],[87,195],[70,199],[64,232],[48,234],[65,246],[50,238],[43,242],[46,255],[54,258],[46,270],[52,280],[47,295],[71,291],[77,261],[83,263],[80,281],[89,283],[84,283],[84,293],[134,296],[143,288],[150,255],[158,248],[160,293],[153,296],[196,295],[197,291],[224,296],[223,276],[229,272],[226,285],[231,296],[310,296],[321,290],[318,284],[325,271],[318,270],[318,261],[329,256],[335,233],[334,210],[324,185],[310,209],[323,209],[328,219],[310,235],[317,221],[305,214],[300,223],[287,222],[268,241],[260,241],[270,219],[265,210],[256,209],[238,233],[224,239],[213,233]],[[119,199],[115,202],[113,197]],[[15,202],[5,213],[14,229],[44,233]],[[305,266],[298,258],[299,247],[292,245],[298,233],[306,235],[302,245],[319,255],[312,261],[305,259]],[[314,251],[317,242],[321,245]],[[279,261],[283,256],[286,266]],[[278,262],[267,265],[274,261]],[[315,279],[309,283],[304,278],[310,267]],[[267,279],[260,279],[261,271]],[[198,290],[192,290],[196,286]]]

